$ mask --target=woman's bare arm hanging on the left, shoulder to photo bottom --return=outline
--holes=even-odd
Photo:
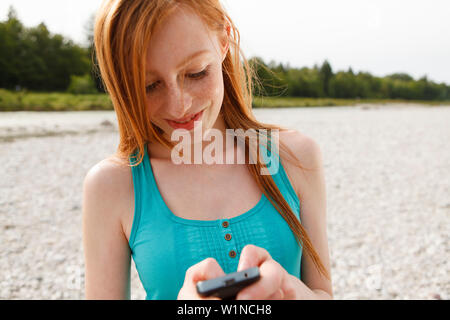
[[[123,174],[104,160],[83,184],[83,247],[86,299],[130,299],[131,252],[120,214],[129,197]],[[129,191],[129,190],[128,190]]]

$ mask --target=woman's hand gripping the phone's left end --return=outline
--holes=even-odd
[[[177,300],[221,300],[217,297],[202,297],[197,293],[197,282],[224,276],[219,263],[214,258],[207,258],[194,264],[186,271],[183,287]]]

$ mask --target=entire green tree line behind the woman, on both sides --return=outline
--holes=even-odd
[[[103,92],[98,73],[93,71],[92,26],[87,32],[90,45],[81,46],[51,34],[44,23],[25,27],[10,8],[7,20],[0,22],[0,88]],[[249,63],[259,79],[259,86],[254,87],[256,96],[450,100],[450,86],[426,76],[418,80],[405,73],[376,77],[351,68],[334,72],[328,61],[312,68],[292,68],[274,61],[266,64],[260,57]]]

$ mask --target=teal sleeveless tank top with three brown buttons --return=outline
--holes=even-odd
[[[158,190],[147,145],[144,151],[143,161],[132,167],[135,211],[129,245],[147,300],[176,300],[187,269],[209,257],[216,259],[225,273],[236,272],[241,251],[248,244],[265,248],[289,274],[300,279],[302,248],[264,194],[253,208],[231,219],[178,217]],[[266,154],[280,160],[278,154]],[[130,157],[130,163],[133,161]],[[278,163],[277,172],[269,172],[300,221],[299,199],[281,161]]]

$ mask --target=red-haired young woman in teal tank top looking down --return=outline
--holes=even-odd
[[[255,119],[253,71],[219,1],[104,1],[95,48],[120,142],[84,181],[86,298],[129,298],[131,257],[147,299],[201,299],[198,281],[253,266],[261,279],[237,299],[332,298],[320,148]],[[177,153],[180,128],[193,139]],[[194,163],[227,129],[279,130],[264,144],[279,167],[263,174],[245,137],[215,150],[245,163]]]

